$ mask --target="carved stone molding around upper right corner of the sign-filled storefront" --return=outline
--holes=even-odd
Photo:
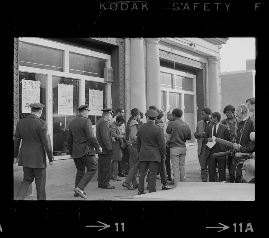
[[[119,46],[119,106],[125,108],[125,44],[122,38],[114,37],[97,37],[91,38],[103,41],[109,44]]]

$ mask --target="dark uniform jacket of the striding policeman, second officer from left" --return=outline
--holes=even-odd
[[[81,158],[85,154],[95,156],[94,148],[99,150],[100,145],[92,131],[92,122],[84,115],[78,115],[69,123],[67,144],[73,158]]]

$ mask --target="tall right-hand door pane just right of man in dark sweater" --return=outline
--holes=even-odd
[[[184,120],[188,122],[191,127],[191,134],[194,135],[194,95],[184,94]],[[191,140],[187,140],[186,143],[195,142],[195,138],[192,136]]]

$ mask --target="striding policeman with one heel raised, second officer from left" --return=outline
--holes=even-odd
[[[97,151],[102,151],[102,148],[93,134],[92,122],[88,118],[89,105],[81,105],[77,110],[78,116],[69,123],[67,143],[77,168],[74,197],[87,198],[84,189],[97,170],[94,148]]]

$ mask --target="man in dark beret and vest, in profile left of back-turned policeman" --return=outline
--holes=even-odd
[[[125,179],[125,181],[122,183],[122,187],[127,188],[128,190],[134,190],[138,188],[138,182],[136,180],[136,174],[140,168],[140,162],[139,162],[139,154],[136,146],[136,133],[139,128],[139,119],[140,119],[140,110],[137,108],[133,108],[131,110],[131,117],[129,118],[126,130],[124,134],[124,139],[128,145],[127,149],[130,153],[129,158],[129,164],[130,164],[130,170],[129,173]],[[133,187],[130,186],[130,184],[133,184]]]

